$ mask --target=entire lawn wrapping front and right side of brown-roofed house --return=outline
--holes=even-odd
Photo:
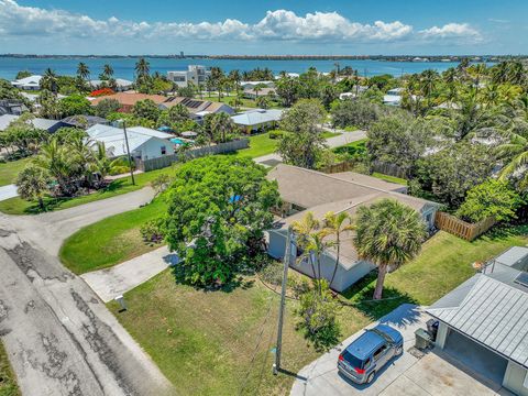
[[[424,246],[421,255],[386,279],[383,301],[370,301],[374,277],[343,298],[342,338],[403,302],[429,305],[474,274],[471,263],[490,258],[510,245],[528,243],[528,228],[495,233],[473,243],[444,232]],[[285,395],[290,375],[273,376],[278,296],[255,278],[227,292],[205,292],[176,284],[165,271],[127,293],[130,309],[109,308],[154,359],[180,395]],[[295,330],[296,301],[288,300],[283,363],[296,373],[319,353]]]

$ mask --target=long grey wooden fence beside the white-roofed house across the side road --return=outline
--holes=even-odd
[[[143,172],[150,172],[150,170],[161,169],[161,168],[170,166],[173,163],[178,162],[180,157],[184,155],[187,158],[198,158],[206,155],[231,153],[238,150],[248,148],[249,146],[250,146],[250,141],[248,139],[240,139],[232,142],[191,148],[180,154],[164,155],[158,158],[150,158],[144,161],[135,160],[135,167]]]

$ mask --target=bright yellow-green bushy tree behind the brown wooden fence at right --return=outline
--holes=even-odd
[[[508,221],[516,217],[516,210],[522,199],[506,182],[487,179],[468,191],[465,201],[457,211],[457,216],[479,222],[487,218],[496,221]]]

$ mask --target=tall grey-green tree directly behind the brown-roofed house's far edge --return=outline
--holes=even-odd
[[[326,111],[316,99],[301,99],[280,120],[280,128],[292,132],[280,140],[277,152],[286,164],[314,169],[320,158],[326,141],[320,125]]]

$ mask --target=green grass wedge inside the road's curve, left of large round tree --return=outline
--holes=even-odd
[[[166,210],[163,199],[82,228],[61,248],[59,257],[76,274],[107,268],[150,252],[160,245],[143,242],[140,227]]]

